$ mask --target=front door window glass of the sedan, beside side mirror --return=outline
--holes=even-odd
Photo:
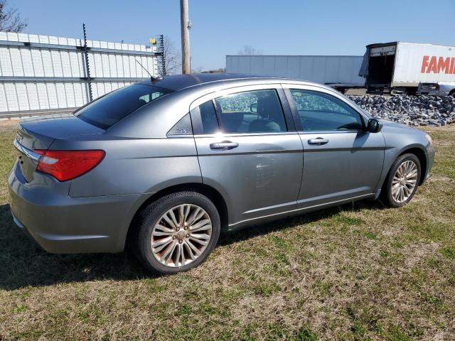
[[[330,94],[291,89],[304,131],[362,130],[360,114]]]

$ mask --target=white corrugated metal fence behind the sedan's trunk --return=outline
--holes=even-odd
[[[0,116],[80,107],[158,75],[155,46],[0,32]],[[137,63],[137,61],[141,63]]]

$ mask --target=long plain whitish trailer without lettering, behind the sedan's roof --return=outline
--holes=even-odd
[[[227,55],[226,72],[310,80],[338,90],[363,87],[361,55]]]

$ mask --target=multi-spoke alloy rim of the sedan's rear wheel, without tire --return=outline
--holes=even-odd
[[[164,266],[185,266],[203,254],[211,237],[212,221],[202,207],[178,205],[155,224],[151,232],[151,252]]]

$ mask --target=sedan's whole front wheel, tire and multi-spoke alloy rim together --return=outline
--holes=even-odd
[[[401,207],[414,196],[421,176],[420,161],[414,154],[404,154],[390,168],[383,188],[385,205]]]

